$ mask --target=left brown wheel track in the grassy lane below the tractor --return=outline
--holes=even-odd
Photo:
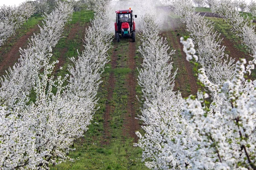
[[[111,68],[112,69],[115,69],[116,68],[116,59],[117,59],[117,52],[115,51],[116,49],[116,45],[114,46],[113,48],[113,51],[112,51],[112,55],[111,55]],[[106,103],[106,111],[104,113],[104,124],[103,124],[103,127],[104,127],[104,131],[103,131],[103,134],[104,134],[104,141],[103,141],[103,144],[108,144],[109,143],[109,140],[111,138],[111,128],[110,128],[110,120],[111,120],[111,112],[113,112],[113,110],[115,109],[113,105],[111,105],[111,100],[113,98],[113,89],[115,88],[115,84],[116,84],[116,78],[115,78],[115,75],[114,75],[114,72],[111,71],[110,75],[109,75],[109,79],[108,79],[108,88],[107,88],[107,91],[108,91],[108,101]]]

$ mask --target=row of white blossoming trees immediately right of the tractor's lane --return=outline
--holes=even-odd
[[[142,160],[147,167],[166,169],[169,167],[169,158],[162,149],[169,136],[175,136],[179,131],[176,128],[183,99],[179,92],[173,91],[177,72],[172,71],[171,55],[175,51],[167,53],[169,46],[166,40],[158,36],[157,25],[154,16],[145,14],[140,35],[142,45],[139,48],[143,64],[138,76],[144,99],[140,119],[145,124],[142,126],[145,135],[137,132],[140,139],[135,146],[143,149]],[[171,147],[167,150],[172,152]]]

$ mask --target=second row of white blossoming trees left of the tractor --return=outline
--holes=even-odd
[[[20,48],[20,59],[1,77],[0,100],[4,105],[12,105],[31,91],[35,83],[33,74],[40,71],[52,56],[52,48],[61,38],[64,24],[70,20],[71,14],[72,8],[67,3],[60,3],[55,11],[46,15],[40,34],[29,40],[28,48]]]

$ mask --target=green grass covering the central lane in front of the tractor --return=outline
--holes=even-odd
[[[107,64],[108,68],[102,74],[103,82],[97,94],[99,109],[94,114],[84,137],[75,142],[76,150],[69,153],[69,156],[76,161],[63,162],[51,167],[52,170],[148,170],[140,159],[141,148],[134,147],[134,139],[123,134],[129,95],[125,88],[125,82],[131,71],[127,65],[128,48],[125,48],[127,45],[127,40],[121,40],[119,44],[116,44],[119,49],[116,51],[119,56],[116,68],[113,69],[110,64]],[[112,50],[109,51],[109,54],[112,54]],[[111,73],[114,74],[116,83],[113,97],[108,100],[107,87]],[[113,107],[110,113],[111,119],[108,121],[110,136],[107,138],[104,136],[106,103]]]

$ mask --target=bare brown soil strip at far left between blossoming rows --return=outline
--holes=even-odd
[[[0,75],[5,74],[6,69],[8,69],[9,67],[12,67],[15,62],[18,61],[18,59],[20,58],[20,52],[19,49],[20,48],[26,48],[28,45],[28,39],[31,38],[31,36],[33,35],[33,33],[38,32],[40,29],[38,27],[38,25],[35,25],[34,28],[30,29],[28,32],[26,32],[25,35],[23,35],[22,37],[20,37],[14,45],[12,45],[11,50],[9,52],[7,52],[6,54],[3,54],[1,56],[2,61],[0,62]],[[8,42],[6,42],[6,44],[3,46],[3,48],[5,48],[5,46],[7,47]],[[2,50],[4,50],[2,48]]]

